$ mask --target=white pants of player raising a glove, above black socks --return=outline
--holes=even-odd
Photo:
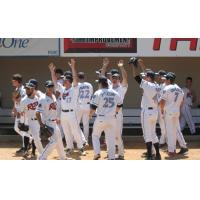
[[[157,109],[142,109],[141,123],[145,143],[152,142],[158,143],[158,137],[156,135],[156,122],[158,119]]]

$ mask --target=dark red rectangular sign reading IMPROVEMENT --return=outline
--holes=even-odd
[[[65,38],[64,53],[137,53],[137,39]]]

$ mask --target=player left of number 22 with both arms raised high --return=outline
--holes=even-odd
[[[72,76],[66,75],[64,85],[57,83],[55,76],[55,66],[53,63],[49,65],[52,80],[57,90],[61,94],[61,126],[63,128],[67,143],[67,155],[70,156],[74,149],[73,140],[77,143],[79,153],[86,155],[83,148],[80,126],[77,119],[77,103],[79,96],[78,77],[75,68],[75,60],[71,59],[69,66],[72,69]],[[73,84],[72,84],[73,83]]]

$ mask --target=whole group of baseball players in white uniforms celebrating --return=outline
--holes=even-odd
[[[138,58],[130,58],[128,64],[132,66],[133,76],[143,89],[141,124],[147,148],[146,159],[160,160],[160,147],[166,144],[169,156],[175,156],[176,141],[181,147],[179,154],[187,153],[181,130],[188,123],[191,133],[196,132],[191,117],[191,106],[195,101],[191,90],[192,78],[188,77],[187,87],[181,89],[175,83],[176,75],[173,72],[160,70],[155,73]],[[95,116],[92,131],[94,160],[101,158],[100,138],[103,132],[107,158],[124,160],[122,108],[128,89],[124,61],[119,60],[117,68],[108,71],[109,59],[103,59],[102,68],[96,71],[98,90],[94,93],[92,84],[85,81],[84,72],[77,73],[75,59],[71,59],[68,65],[71,70],[63,73],[53,63],[49,64],[51,80],[44,84],[45,93],[38,90],[36,79],[30,79],[23,86],[22,76],[13,75],[14,129],[22,136],[22,147],[16,153],[26,157],[31,151],[31,157],[36,158],[37,150],[38,159],[46,160],[56,149],[59,159],[65,160],[71,158],[76,148],[81,156],[85,156],[89,145],[89,122]],[[180,112],[183,113],[181,118]],[[161,128],[160,139],[156,134],[157,121]],[[24,124],[27,130],[21,130],[19,124]],[[44,127],[50,127],[52,131],[45,145],[40,138]]]

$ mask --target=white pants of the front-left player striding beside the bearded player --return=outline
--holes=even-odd
[[[62,143],[61,132],[60,132],[58,125],[56,124],[56,122],[48,122],[48,123],[46,123],[46,125],[53,128],[54,133],[51,136],[49,143],[44,148],[39,160],[46,160],[54,148],[56,148],[59,158],[61,160],[64,160],[65,159],[64,146]]]

